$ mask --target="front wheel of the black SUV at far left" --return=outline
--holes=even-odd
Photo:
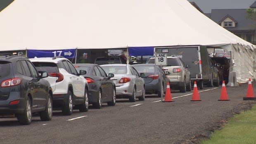
[[[45,110],[40,112],[41,120],[51,120],[52,119],[52,97],[50,94],[47,96],[47,102]]]

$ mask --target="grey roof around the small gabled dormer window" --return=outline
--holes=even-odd
[[[246,19],[246,9],[212,9],[211,19],[217,24],[227,16],[237,21],[236,27],[227,27],[228,30],[254,30],[254,21]]]

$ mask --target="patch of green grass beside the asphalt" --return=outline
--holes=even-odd
[[[201,144],[256,144],[256,105],[250,111],[235,115]]]

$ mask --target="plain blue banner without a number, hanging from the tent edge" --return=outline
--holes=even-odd
[[[129,56],[152,56],[154,47],[128,47]]]

